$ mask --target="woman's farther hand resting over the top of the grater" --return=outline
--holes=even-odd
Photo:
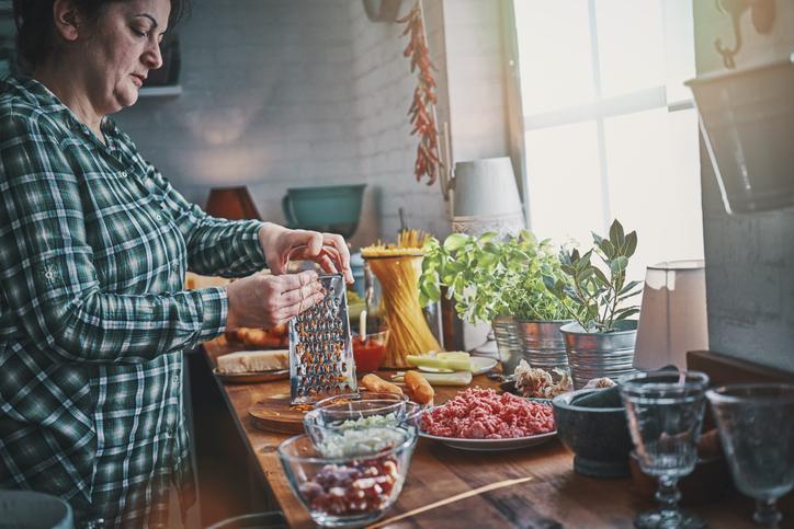
[[[342,235],[291,230],[266,222],[259,230],[259,242],[262,245],[264,257],[268,260],[268,266],[275,275],[286,273],[287,258],[310,260],[319,264],[324,271],[330,274],[341,273],[347,283],[353,283],[350,251]],[[295,251],[293,252],[293,250]],[[340,266],[342,269],[338,269]]]

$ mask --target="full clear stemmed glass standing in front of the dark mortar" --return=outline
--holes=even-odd
[[[678,480],[694,470],[708,377],[697,371],[646,371],[621,379],[628,430],[639,467],[659,481],[660,508],[634,519],[639,528],[695,528],[705,522],[679,509]]]

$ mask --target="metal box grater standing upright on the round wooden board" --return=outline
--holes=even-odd
[[[326,297],[290,321],[290,402],[308,404],[356,391],[341,274],[321,274]]]

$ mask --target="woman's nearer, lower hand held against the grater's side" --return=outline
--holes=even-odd
[[[273,276],[254,274],[226,287],[226,329],[273,329],[320,302],[322,285],[314,271]]]

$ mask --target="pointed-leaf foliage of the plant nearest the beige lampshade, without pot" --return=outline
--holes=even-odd
[[[553,275],[544,275],[543,280],[549,291],[565,301],[564,307],[582,329],[609,333],[617,330],[619,322],[639,312],[636,304],[625,304],[643,289],[642,281],[626,283],[628,258],[637,249],[637,232],[624,233],[623,226],[614,220],[608,239],[592,235],[594,246],[585,254],[576,249],[560,250],[560,269],[568,280]],[[606,273],[591,262],[593,255]]]

